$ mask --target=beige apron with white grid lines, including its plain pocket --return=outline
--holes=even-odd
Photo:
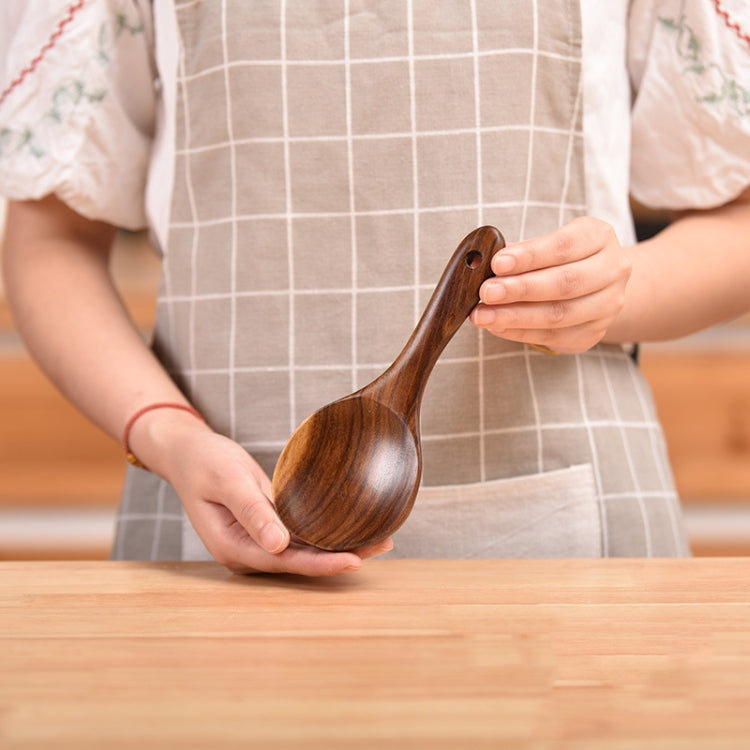
[[[269,475],[390,364],[461,238],[585,210],[568,0],[178,3],[177,158],[155,349]],[[463,326],[422,411],[392,554],[683,555],[649,390],[619,347],[549,357]],[[207,552],[130,468],[116,557]]]

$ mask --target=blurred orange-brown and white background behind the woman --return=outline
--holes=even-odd
[[[641,236],[666,221],[635,212]],[[0,234],[3,219],[0,203]],[[147,336],[159,265],[145,235],[120,233],[113,273]],[[641,365],[694,554],[750,555],[750,315],[643,346]],[[105,559],[123,475],[122,447],[69,406],[26,353],[0,281],[0,560]]]

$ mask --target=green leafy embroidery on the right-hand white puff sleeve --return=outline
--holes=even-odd
[[[684,0],[678,18],[660,16],[659,22],[664,29],[677,35],[677,54],[687,63],[683,75],[699,76],[706,83],[706,93],[696,101],[714,107],[725,104],[739,117],[750,117],[750,89],[727,75],[717,63],[706,59],[695,29],[687,22]]]

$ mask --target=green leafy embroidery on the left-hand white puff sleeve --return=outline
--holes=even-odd
[[[66,83],[58,86],[50,96],[49,109],[33,124],[24,124],[20,128],[3,128],[0,130],[0,160],[19,151],[27,151],[41,159],[48,151],[43,142],[43,126],[50,123],[62,125],[82,106],[98,104],[107,97],[107,90],[87,83],[87,74],[92,64],[105,67],[112,61],[112,52],[123,34],[135,36],[142,34],[143,24],[133,23],[124,13],[117,13],[112,19],[102,23],[97,35],[97,46],[91,59],[76,71]],[[38,75],[38,73],[37,73]],[[97,78],[99,76],[97,75]]]

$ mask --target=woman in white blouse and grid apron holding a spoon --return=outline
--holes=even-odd
[[[387,551],[291,544],[268,476],[482,224],[508,247],[431,377],[391,554],[688,554],[631,353],[749,306],[748,18],[722,6],[11,5],[7,292],[141,464],[114,556],[333,575]],[[675,211],[648,242],[631,191]],[[163,257],[152,348],[108,274],[115,226]]]

